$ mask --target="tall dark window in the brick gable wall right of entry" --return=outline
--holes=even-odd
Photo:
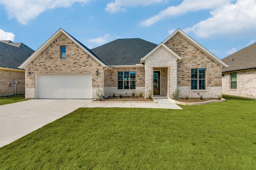
[[[191,69],[191,90],[205,90],[206,69]]]

